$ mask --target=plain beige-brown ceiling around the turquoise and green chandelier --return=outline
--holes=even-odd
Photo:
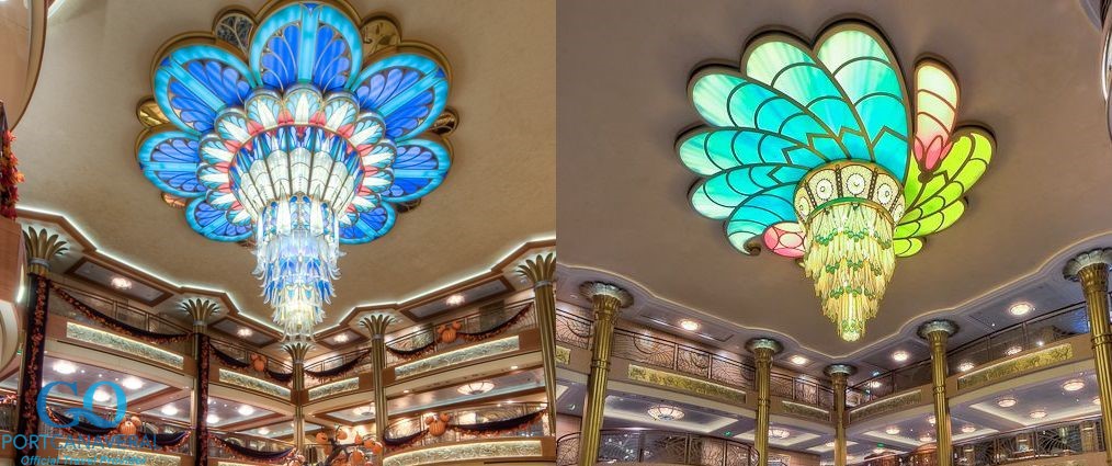
[[[686,200],[695,176],[673,150],[698,121],[686,100],[697,63],[736,62],[761,28],[813,38],[843,14],[875,21],[905,70],[923,53],[952,63],[960,120],[987,125],[999,143],[965,216],[898,261],[880,316],[855,344],[835,337],[793,261],[743,256],[721,222],[695,214]],[[1112,230],[1101,37],[1076,1],[574,0],[559,2],[557,24],[558,248],[568,266],[845,355]]]

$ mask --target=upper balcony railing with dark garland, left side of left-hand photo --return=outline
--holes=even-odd
[[[131,306],[125,301],[113,299],[110,297],[95,295],[89,291],[83,291],[77,288],[72,288],[66,285],[58,284],[59,288],[63,289],[67,294],[76,298],[77,300],[85,303],[98,311],[119,320],[129,326],[141,328],[147,331],[153,331],[159,334],[189,334],[191,330],[170,320],[163,318],[157,314],[149,310],[141,309]],[[100,328],[101,325],[88,318],[85,314],[79,313],[73,309],[72,306],[67,304],[63,299],[59,298],[57,294],[51,291],[53,299],[50,300],[50,314],[56,314],[66,317],[67,319],[82,323],[90,327]],[[109,330],[110,331],[110,330]],[[159,344],[162,349],[177,353],[179,355],[186,355],[189,351],[189,341],[175,341],[168,344]]]

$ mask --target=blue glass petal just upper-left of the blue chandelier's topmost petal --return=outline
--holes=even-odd
[[[173,49],[155,70],[155,100],[178,128],[202,133],[212,129],[220,109],[241,106],[252,81],[234,53],[208,44]]]

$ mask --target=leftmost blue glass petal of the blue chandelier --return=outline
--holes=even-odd
[[[186,198],[202,196],[206,188],[197,178],[197,137],[183,131],[149,135],[139,146],[139,169],[163,192]]]

